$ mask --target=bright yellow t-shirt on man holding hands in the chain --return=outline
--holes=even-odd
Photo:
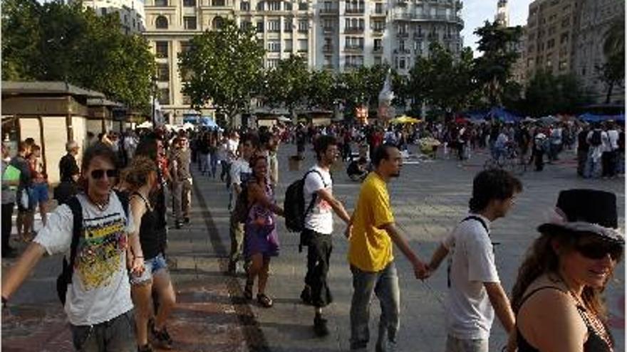
[[[394,222],[385,181],[371,172],[363,181],[353,216],[348,262],[366,272],[383,270],[392,260],[392,239],[378,227]]]

